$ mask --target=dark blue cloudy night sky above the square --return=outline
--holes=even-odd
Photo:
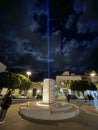
[[[98,0],[1,0],[0,62],[44,77],[98,71]]]

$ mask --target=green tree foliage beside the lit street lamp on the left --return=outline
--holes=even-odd
[[[12,72],[0,73],[0,88],[6,87],[9,89],[19,88],[20,90],[28,89],[31,81],[23,74]]]

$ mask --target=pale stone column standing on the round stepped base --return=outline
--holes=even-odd
[[[43,81],[43,103],[52,104],[55,102],[55,81],[44,79]]]

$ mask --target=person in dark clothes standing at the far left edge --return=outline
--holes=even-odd
[[[4,123],[4,118],[7,113],[8,108],[12,104],[12,94],[11,90],[8,91],[8,93],[4,96],[4,98],[1,101],[0,107],[0,124]]]

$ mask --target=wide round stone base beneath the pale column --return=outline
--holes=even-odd
[[[46,103],[44,104],[42,102],[34,101],[29,102],[29,106],[27,106],[27,104],[22,104],[20,106],[19,114],[21,115],[21,117],[30,121],[65,120],[79,114],[79,108],[76,105],[69,104],[66,102],[57,102],[49,105]]]

